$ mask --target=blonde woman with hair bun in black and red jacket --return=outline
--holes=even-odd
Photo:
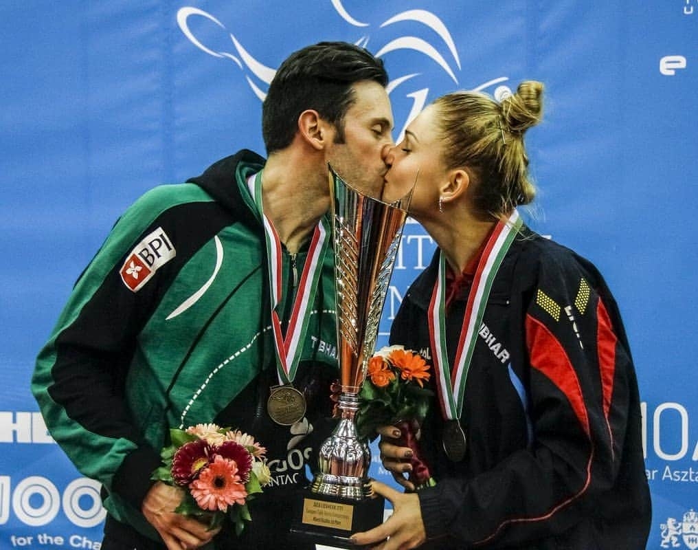
[[[651,517],[637,380],[621,317],[586,259],[522,224],[533,200],[526,130],[540,82],[497,103],[457,92],[426,108],[389,154],[385,193],[418,172],[410,206],[438,244],[391,343],[434,366],[420,445],[437,484],[400,494],[384,547],[644,549]],[[408,489],[410,449],[381,430],[385,468]]]

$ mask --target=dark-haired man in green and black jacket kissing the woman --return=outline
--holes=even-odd
[[[380,192],[386,84],[383,62],[354,45],[295,52],[262,108],[269,159],[243,150],[149,191],[81,275],[32,390],[55,440],[105,487],[103,550],[192,549],[216,535],[172,512],[179,489],[150,481],[169,428],[209,422],[253,435],[272,471],[253,522],[239,538],[224,528],[216,548],[286,546],[288,496],[331,428],[327,164]],[[275,327],[299,342],[295,353]],[[302,394],[290,421],[274,412],[282,384]]]

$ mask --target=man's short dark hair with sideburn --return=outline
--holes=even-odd
[[[292,53],[274,75],[262,105],[262,136],[267,154],[288,147],[306,109],[334,124],[344,141],[344,115],[354,103],[352,85],[373,80],[385,87],[383,60],[346,42],[320,42]]]

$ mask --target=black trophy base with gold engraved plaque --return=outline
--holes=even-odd
[[[336,548],[360,548],[349,537],[383,523],[385,498],[350,500],[332,495],[298,492],[294,499],[290,533],[295,540]]]

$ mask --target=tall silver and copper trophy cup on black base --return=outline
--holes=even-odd
[[[336,277],[339,424],[320,447],[319,473],[302,495],[291,533],[304,540],[355,548],[352,533],[383,523],[384,499],[371,494],[371,451],[354,417],[373,355],[390,275],[412,191],[383,203],[352,189],[329,168]]]

